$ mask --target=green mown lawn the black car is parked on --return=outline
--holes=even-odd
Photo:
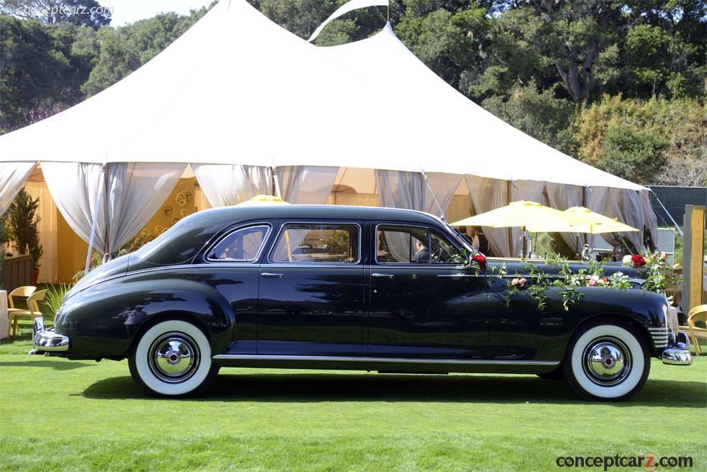
[[[0,341],[0,470],[558,470],[557,456],[693,456],[707,470],[707,357],[653,360],[629,403],[562,381],[222,369],[209,396],[148,398],[127,362]]]

